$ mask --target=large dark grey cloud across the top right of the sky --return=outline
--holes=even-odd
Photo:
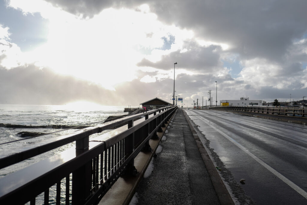
[[[245,59],[281,61],[293,39],[301,39],[307,31],[305,0],[47,1],[84,17],[111,6],[136,9],[147,3],[158,20],[193,30],[206,40],[229,44],[231,51]]]

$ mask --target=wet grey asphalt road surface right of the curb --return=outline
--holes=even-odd
[[[186,113],[231,172],[221,171],[226,181],[232,177],[255,204],[307,204],[307,126],[216,110]]]

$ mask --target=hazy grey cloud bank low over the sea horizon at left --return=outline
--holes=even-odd
[[[14,69],[0,68],[0,104],[65,104],[92,101],[107,104],[114,92],[88,81],[62,76],[34,65]]]

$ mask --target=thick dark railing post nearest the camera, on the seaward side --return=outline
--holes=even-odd
[[[76,156],[86,152],[89,147],[89,137],[76,140]],[[92,162],[88,161],[82,167],[72,172],[72,204],[84,204],[91,195]]]

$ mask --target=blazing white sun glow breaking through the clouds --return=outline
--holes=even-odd
[[[144,57],[143,48],[157,50],[164,45],[162,38],[172,34],[176,41],[169,53],[181,48],[187,37],[188,31],[157,21],[157,15],[150,13],[146,4],[137,10],[105,9],[91,19],[81,19],[41,0],[32,3],[29,6],[29,2],[10,1],[11,7],[21,9],[25,15],[39,12],[50,22],[48,42],[24,53],[27,62],[99,83],[107,89],[114,90],[114,85],[136,78],[136,64]],[[159,59],[162,54],[165,53],[152,52],[150,56]]]

